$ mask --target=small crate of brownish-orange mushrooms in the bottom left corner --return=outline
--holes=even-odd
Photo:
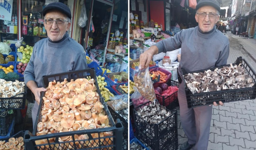
[[[20,136],[18,138],[9,138],[6,141],[0,141],[0,150],[24,150],[24,142],[23,137]]]

